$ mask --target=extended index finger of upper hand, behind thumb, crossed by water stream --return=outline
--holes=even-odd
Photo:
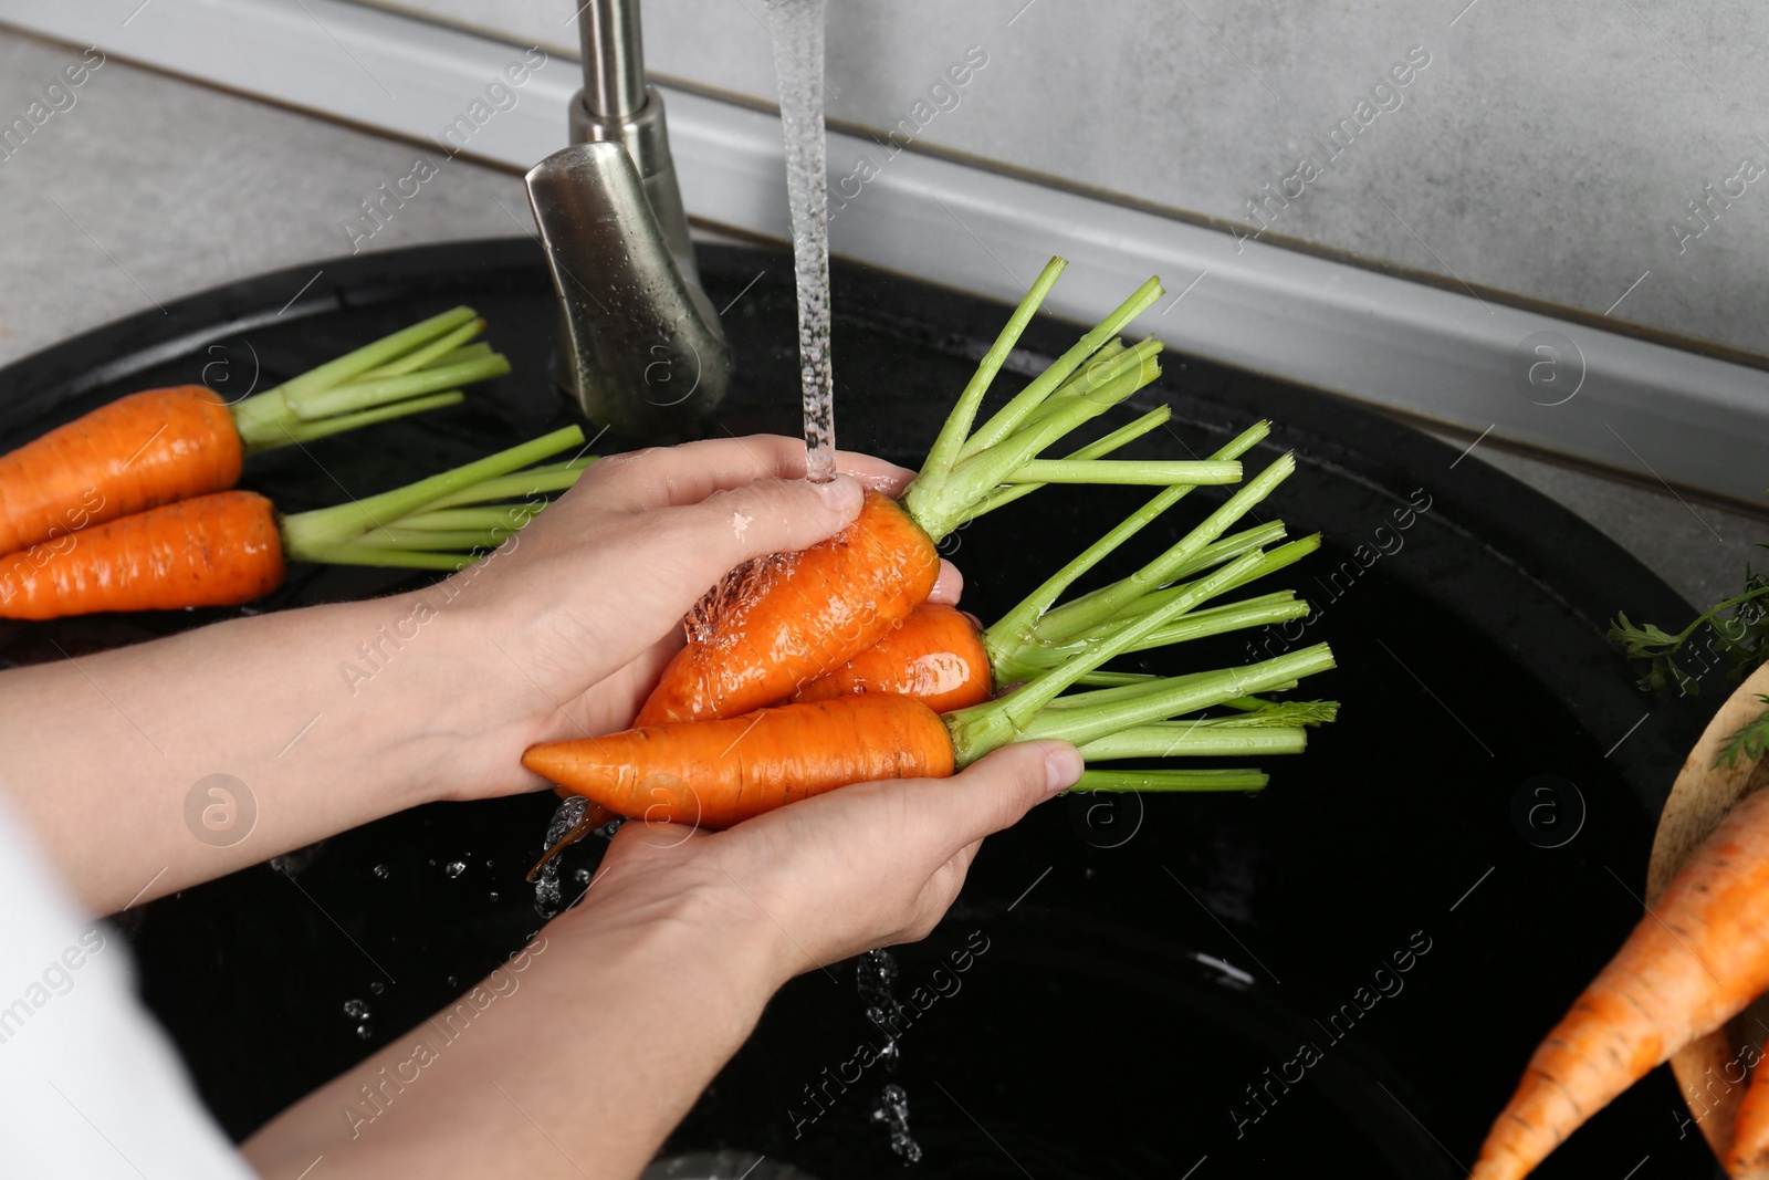
[[[842,471],[853,474],[865,487],[876,487],[892,495],[915,478],[915,472],[870,455],[837,451],[835,458]],[[697,504],[713,492],[736,488],[755,479],[801,479],[803,476],[803,442],[780,435],[748,435],[612,455],[593,464],[578,483],[594,488],[603,504],[639,511]]]

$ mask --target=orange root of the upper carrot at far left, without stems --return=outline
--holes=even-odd
[[[209,389],[131,393],[0,455],[0,552],[230,488],[241,455]]]

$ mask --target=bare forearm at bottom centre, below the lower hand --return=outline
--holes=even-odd
[[[465,1007],[308,1095],[246,1157],[271,1180],[320,1155],[315,1180],[639,1175],[782,978],[770,932],[697,904],[564,915]]]

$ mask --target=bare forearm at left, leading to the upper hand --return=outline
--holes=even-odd
[[[101,913],[440,798],[463,619],[410,623],[439,589],[4,672],[0,789]]]

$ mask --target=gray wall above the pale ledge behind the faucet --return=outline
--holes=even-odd
[[[883,133],[982,46],[920,143],[1242,232],[1261,225],[1245,202],[1311,157],[1267,241],[1592,315],[1620,301],[1615,320],[1769,357],[1769,173],[1746,179],[1769,166],[1769,5],[1465,4],[831,0],[830,117]],[[575,51],[571,0],[384,7]],[[764,0],[646,0],[647,65],[771,101],[764,19]],[[1429,65],[1334,157],[1332,129],[1413,46]]]

